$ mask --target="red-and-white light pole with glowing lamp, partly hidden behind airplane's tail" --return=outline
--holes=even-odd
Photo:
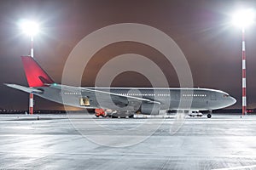
[[[38,23],[30,20],[23,20],[20,23],[21,30],[26,33],[30,37],[31,45],[30,45],[30,55],[32,58],[34,57],[34,36],[39,31]],[[29,114],[33,114],[33,94],[29,94]]]

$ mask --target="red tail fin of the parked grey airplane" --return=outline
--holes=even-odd
[[[21,56],[24,66],[26,80],[29,87],[42,87],[44,84],[51,84],[54,81],[47,75],[47,73],[38,65],[30,56]]]

